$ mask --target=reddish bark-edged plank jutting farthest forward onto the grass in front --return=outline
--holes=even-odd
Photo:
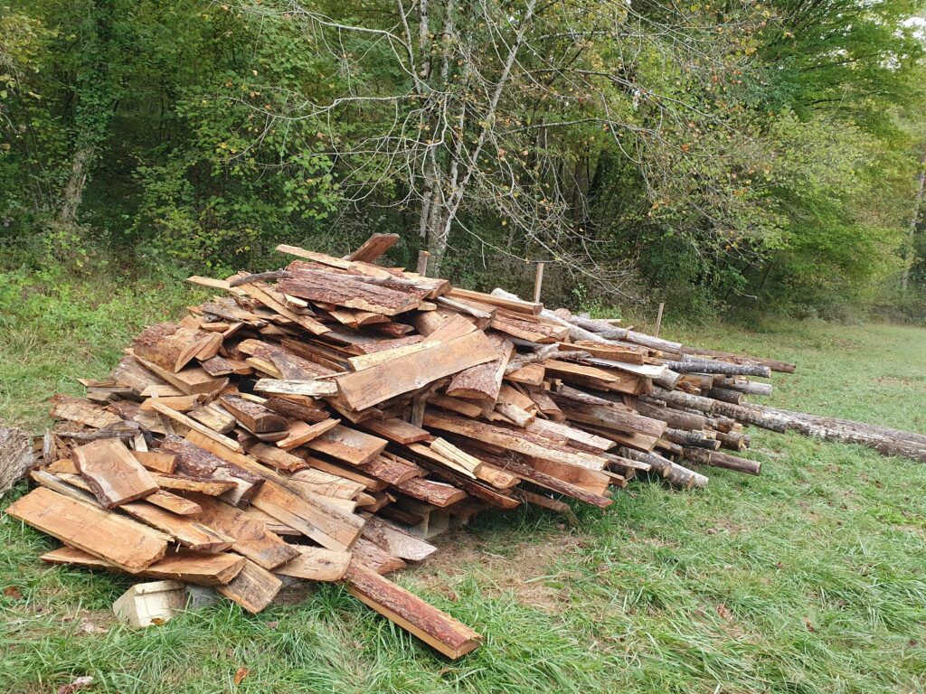
[[[345,580],[347,590],[357,600],[407,629],[448,658],[459,658],[482,644],[482,637],[469,626],[363,564],[352,562]]]

